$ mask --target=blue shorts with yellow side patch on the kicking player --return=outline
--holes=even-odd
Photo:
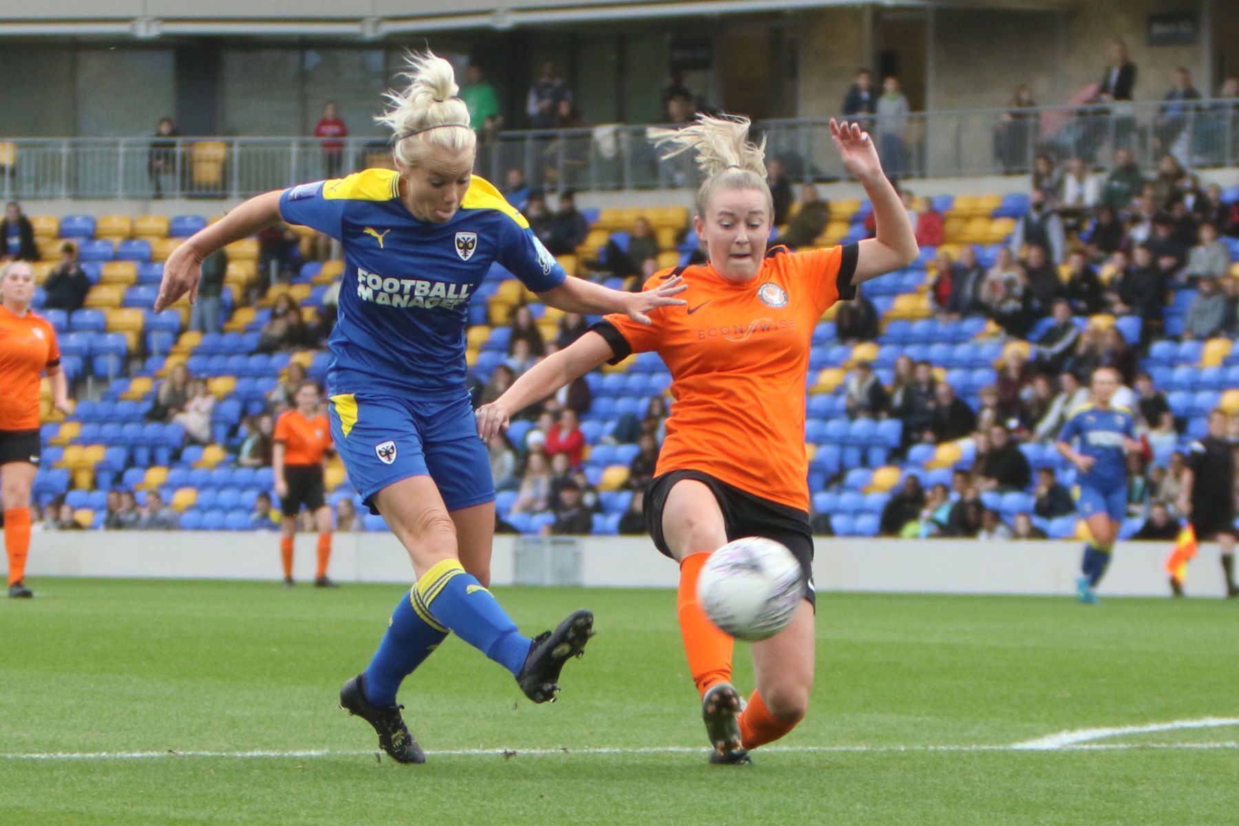
[[[374,494],[415,476],[434,479],[447,510],[494,499],[491,459],[468,395],[419,401],[347,393],[331,396],[328,419],[348,479],[373,514]]]

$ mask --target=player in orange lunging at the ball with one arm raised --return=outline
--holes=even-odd
[[[665,156],[691,151],[705,173],[693,218],[709,264],[680,274],[684,307],[653,324],[607,316],[570,347],[522,375],[477,412],[489,438],[508,415],[587,370],[657,352],[672,373],[670,419],[646,524],[663,554],[680,563],[679,619],[711,763],[747,762],[751,748],[789,732],[804,717],[813,686],[813,539],[809,530],[804,393],[813,328],[821,313],[855,296],[856,285],[907,266],[918,255],[912,225],[882,173],[870,136],[830,121],[835,147],[873,202],[877,237],[859,244],[792,253],[766,249],[773,220],[763,149],[743,118],[701,118],[680,130],[650,130]],[[805,599],[792,623],[752,645],[757,690],[747,706],[731,680],[732,639],[706,618],[696,581],[709,555],[742,536],[787,545],[804,568]],[[743,708],[743,711],[741,711]]]

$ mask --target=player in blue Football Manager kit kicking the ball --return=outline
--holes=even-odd
[[[567,312],[646,312],[684,303],[678,279],[642,293],[569,279],[529,224],[472,175],[476,137],[456,98],[451,64],[410,58],[410,84],[379,118],[392,128],[396,170],[269,192],[188,239],[169,259],[155,302],[167,307],[201,279],[214,250],[286,220],[341,241],[339,320],[328,339],[330,420],[349,479],[383,514],[413,560],[416,585],[400,599],[364,672],[341,706],[369,722],[401,763],[425,754],[409,733],[396,690],[447,632],[508,669],[534,702],[553,700],[564,663],[579,655],[593,617],[579,611],[534,640],[486,589],[494,487],[466,389],[470,297],[493,261],[545,303]]]

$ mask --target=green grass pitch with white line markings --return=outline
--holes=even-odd
[[[336,703],[399,587],[32,585],[0,602],[5,825],[1239,822],[1233,601],[824,593],[809,717],[710,767],[674,593],[497,588],[527,632],[587,606],[600,633],[544,706],[450,639],[401,767]],[[1093,728],[1120,731],[1011,748]]]

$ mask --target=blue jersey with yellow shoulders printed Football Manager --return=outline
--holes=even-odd
[[[344,248],[339,317],[327,341],[332,394],[458,396],[468,302],[491,264],[533,292],[566,277],[524,215],[477,176],[444,224],[409,213],[393,170],[292,187],[280,196],[280,213]]]

